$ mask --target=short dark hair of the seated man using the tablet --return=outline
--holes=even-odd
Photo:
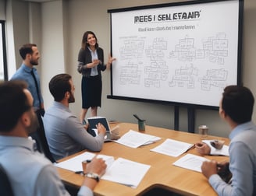
[[[55,75],[49,82],[49,89],[55,101],[61,101],[65,97],[66,92],[71,91],[69,80],[72,79],[69,74]]]

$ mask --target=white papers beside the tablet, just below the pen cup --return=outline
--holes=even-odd
[[[140,145],[148,145],[153,142],[157,142],[161,138],[154,135],[148,135],[137,131],[130,130],[118,140],[114,141],[122,145],[129,146],[131,148],[137,148]]]

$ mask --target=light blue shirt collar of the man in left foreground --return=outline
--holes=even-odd
[[[7,147],[21,147],[28,149],[31,152],[36,151],[37,145],[34,140],[23,137],[3,136],[0,135],[0,146]]]

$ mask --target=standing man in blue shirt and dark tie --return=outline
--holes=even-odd
[[[34,68],[34,65],[38,65],[38,59],[40,58],[37,45],[24,44],[20,47],[20,56],[23,59],[23,63],[17,69],[16,73],[12,75],[11,80],[19,79],[27,82],[27,89],[34,98],[34,110],[40,110],[41,115],[44,115],[44,101],[41,96],[40,78],[37,69]]]

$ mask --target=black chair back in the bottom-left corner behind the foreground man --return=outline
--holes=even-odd
[[[9,178],[7,177],[7,174],[5,173],[5,169],[2,167],[1,164],[0,164],[0,195],[1,196],[14,195]]]

